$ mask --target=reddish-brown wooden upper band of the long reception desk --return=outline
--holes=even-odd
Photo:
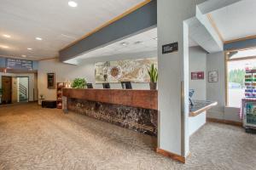
[[[157,90],[63,88],[62,93],[67,98],[158,110]]]

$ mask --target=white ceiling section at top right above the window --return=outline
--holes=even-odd
[[[224,41],[256,35],[256,1],[242,0],[211,13]]]

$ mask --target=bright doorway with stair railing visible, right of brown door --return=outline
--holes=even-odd
[[[29,99],[29,77],[17,77],[18,102],[28,102]]]

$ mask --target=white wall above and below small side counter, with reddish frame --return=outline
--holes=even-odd
[[[204,71],[203,80],[191,80],[191,71]],[[195,89],[192,99],[207,99],[207,52],[200,47],[189,48],[189,89]],[[195,133],[207,122],[206,112],[189,117],[189,135]]]

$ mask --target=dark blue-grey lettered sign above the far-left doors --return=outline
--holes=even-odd
[[[31,60],[6,59],[6,68],[32,71],[33,65]]]

